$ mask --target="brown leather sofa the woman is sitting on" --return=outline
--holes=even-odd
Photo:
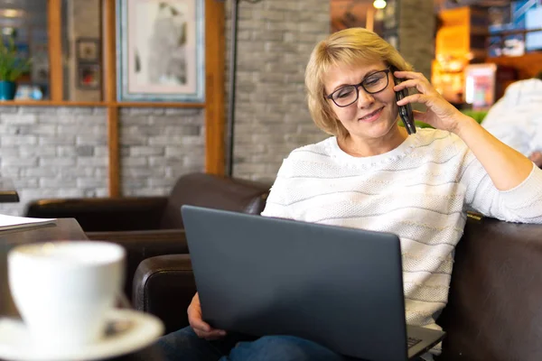
[[[135,273],[134,306],[188,324],[195,292],[189,255],[146,259]],[[438,323],[447,331],[438,360],[542,360],[542,226],[469,218]]]

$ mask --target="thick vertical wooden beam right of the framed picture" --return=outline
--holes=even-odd
[[[224,4],[205,1],[205,171],[224,174]]]

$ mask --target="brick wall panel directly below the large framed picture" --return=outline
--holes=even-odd
[[[126,108],[119,124],[123,195],[168,194],[182,174],[204,171],[201,109]]]

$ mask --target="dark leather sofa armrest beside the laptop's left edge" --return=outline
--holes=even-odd
[[[188,326],[186,310],[195,292],[189,255],[147,258],[135,271],[133,306],[162,319],[166,333]]]

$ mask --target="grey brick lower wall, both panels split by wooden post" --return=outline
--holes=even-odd
[[[182,173],[204,169],[201,109],[127,108],[120,116],[125,195],[167,194]],[[22,215],[32,199],[107,197],[107,117],[96,107],[0,107],[0,174],[13,180]]]

